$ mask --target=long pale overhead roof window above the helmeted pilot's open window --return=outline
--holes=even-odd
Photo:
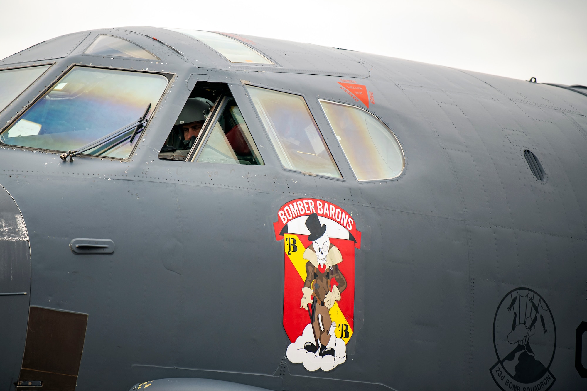
[[[272,64],[270,60],[265,58],[261,53],[257,52],[249,46],[236,39],[228,38],[225,35],[213,33],[210,31],[201,30],[186,30],[186,29],[169,29],[180,32],[191,38],[205,43],[210,48],[216,50],[222,56],[227,58],[230,62],[248,62],[255,64]]]

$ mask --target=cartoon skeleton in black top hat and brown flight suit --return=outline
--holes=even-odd
[[[334,343],[332,338],[336,328],[336,323],[330,319],[329,309],[340,300],[340,293],[346,288],[346,279],[338,268],[342,262],[340,250],[330,243],[330,238],[326,234],[326,225],[320,224],[318,215],[312,213],[306,219],[306,227],[310,231],[308,240],[312,245],[306,248],[303,258],[306,262],[306,279],[302,288],[302,301],[300,308],[308,308],[312,329],[314,333],[315,344],[306,342],[303,346],[308,352],[315,353],[318,351],[320,356],[335,355]],[[333,285],[331,280],[335,279],[337,285]],[[332,287],[332,288],[331,288]],[[311,298],[313,296],[313,299]]]

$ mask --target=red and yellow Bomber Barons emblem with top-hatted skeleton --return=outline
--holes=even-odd
[[[344,209],[316,198],[284,204],[274,223],[284,240],[286,356],[307,370],[346,360],[355,314],[355,248],[361,233]]]

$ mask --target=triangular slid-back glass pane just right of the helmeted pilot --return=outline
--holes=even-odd
[[[210,136],[196,161],[262,166],[261,154],[234,99],[224,97],[217,112]]]

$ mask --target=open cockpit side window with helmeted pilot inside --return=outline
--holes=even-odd
[[[224,83],[197,83],[159,158],[264,165],[241,110]]]

